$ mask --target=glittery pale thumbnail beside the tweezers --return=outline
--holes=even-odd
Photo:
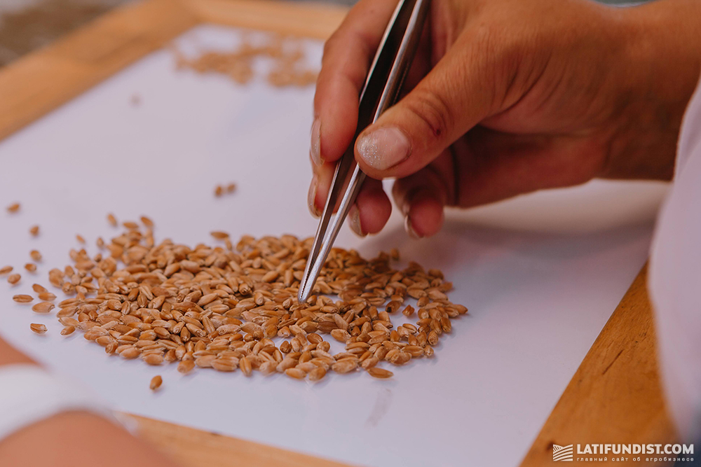
[[[367,165],[378,170],[389,169],[409,157],[411,144],[402,130],[378,128],[358,141],[358,155]]]

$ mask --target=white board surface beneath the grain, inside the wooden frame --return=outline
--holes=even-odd
[[[198,27],[185,48],[231,49],[238,33]],[[321,44],[308,43],[311,60]],[[139,106],[131,104],[139,95]],[[403,260],[440,267],[451,300],[470,316],[454,322],[433,360],[390,381],[330,375],[320,384],[247,379],[108,358],[79,333],[59,335],[55,316],[15,304],[48,285],[79,233],[94,244],[141,214],[156,235],[210,242],[208,232],[311,236],[306,207],[313,89],[242,87],[222,76],[175,71],[168,51],[149,55],[0,142],[0,263],[44,260],[18,286],[0,283],[0,332],[51,368],[72,375],[120,410],[295,449],[360,466],[514,466],[599,330],[646,260],[665,186],[596,181],[579,188],[451,211],[433,239],[412,241],[393,216],[381,235],[344,229],[337,244],[366,257],[397,246]],[[217,183],[238,191],[213,197]],[[27,230],[41,225],[33,239]],[[93,253],[95,253],[93,249]],[[34,335],[29,323],[48,326]],[[163,375],[163,390],[149,380]],[[576,420],[572,421],[576,423]]]

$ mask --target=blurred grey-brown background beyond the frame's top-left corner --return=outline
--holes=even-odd
[[[0,67],[129,1],[137,0],[0,0]],[[357,0],[318,1],[353,5]]]

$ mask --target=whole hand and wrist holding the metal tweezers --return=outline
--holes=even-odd
[[[396,0],[361,0],[327,41],[315,95],[309,205],[325,204],[355,133],[358,95]],[[359,235],[391,212],[434,235],[472,207],[594,177],[670,179],[695,88],[701,8],[584,0],[434,0],[404,96],[360,134],[369,177],[348,215]]]

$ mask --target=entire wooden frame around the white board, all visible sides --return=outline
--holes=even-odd
[[[143,0],[119,8],[0,71],[0,139],[199,23],[325,39],[345,13],[338,6],[266,0]],[[342,465],[217,433],[128,417],[137,421],[142,438],[184,466]],[[658,377],[644,267],[573,375],[522,466],[552,462],[553,444],[664,443],[675,438]]]

